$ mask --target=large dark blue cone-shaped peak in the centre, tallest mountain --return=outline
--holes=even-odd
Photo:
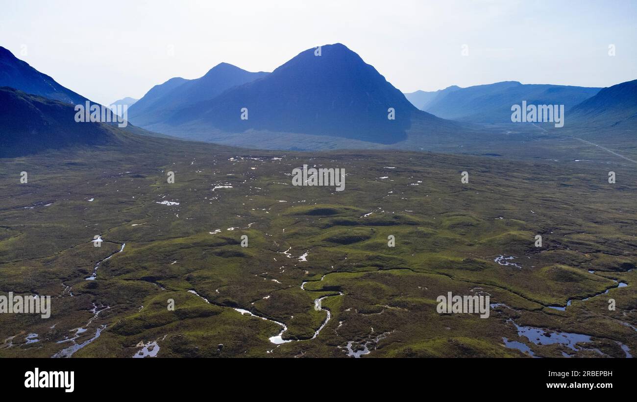
[[[243,108],[247,120],[241,119]],[[451,123],[419,111],[373,66],[337,43],[322,46],[320,55],[305,50],[268,76],[180,109],[154,129],[175,135],[257,130],[393,144],[406,138],[413,119]]]

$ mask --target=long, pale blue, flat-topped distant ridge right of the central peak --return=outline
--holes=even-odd
[[[599,92],[599,88],[550,84],[522,84],[503,81],[459,88],[436,97],[426,111],[441,118],[473,123],[510,123],[511,106],[521,104],[563,104],[568,110]]]

